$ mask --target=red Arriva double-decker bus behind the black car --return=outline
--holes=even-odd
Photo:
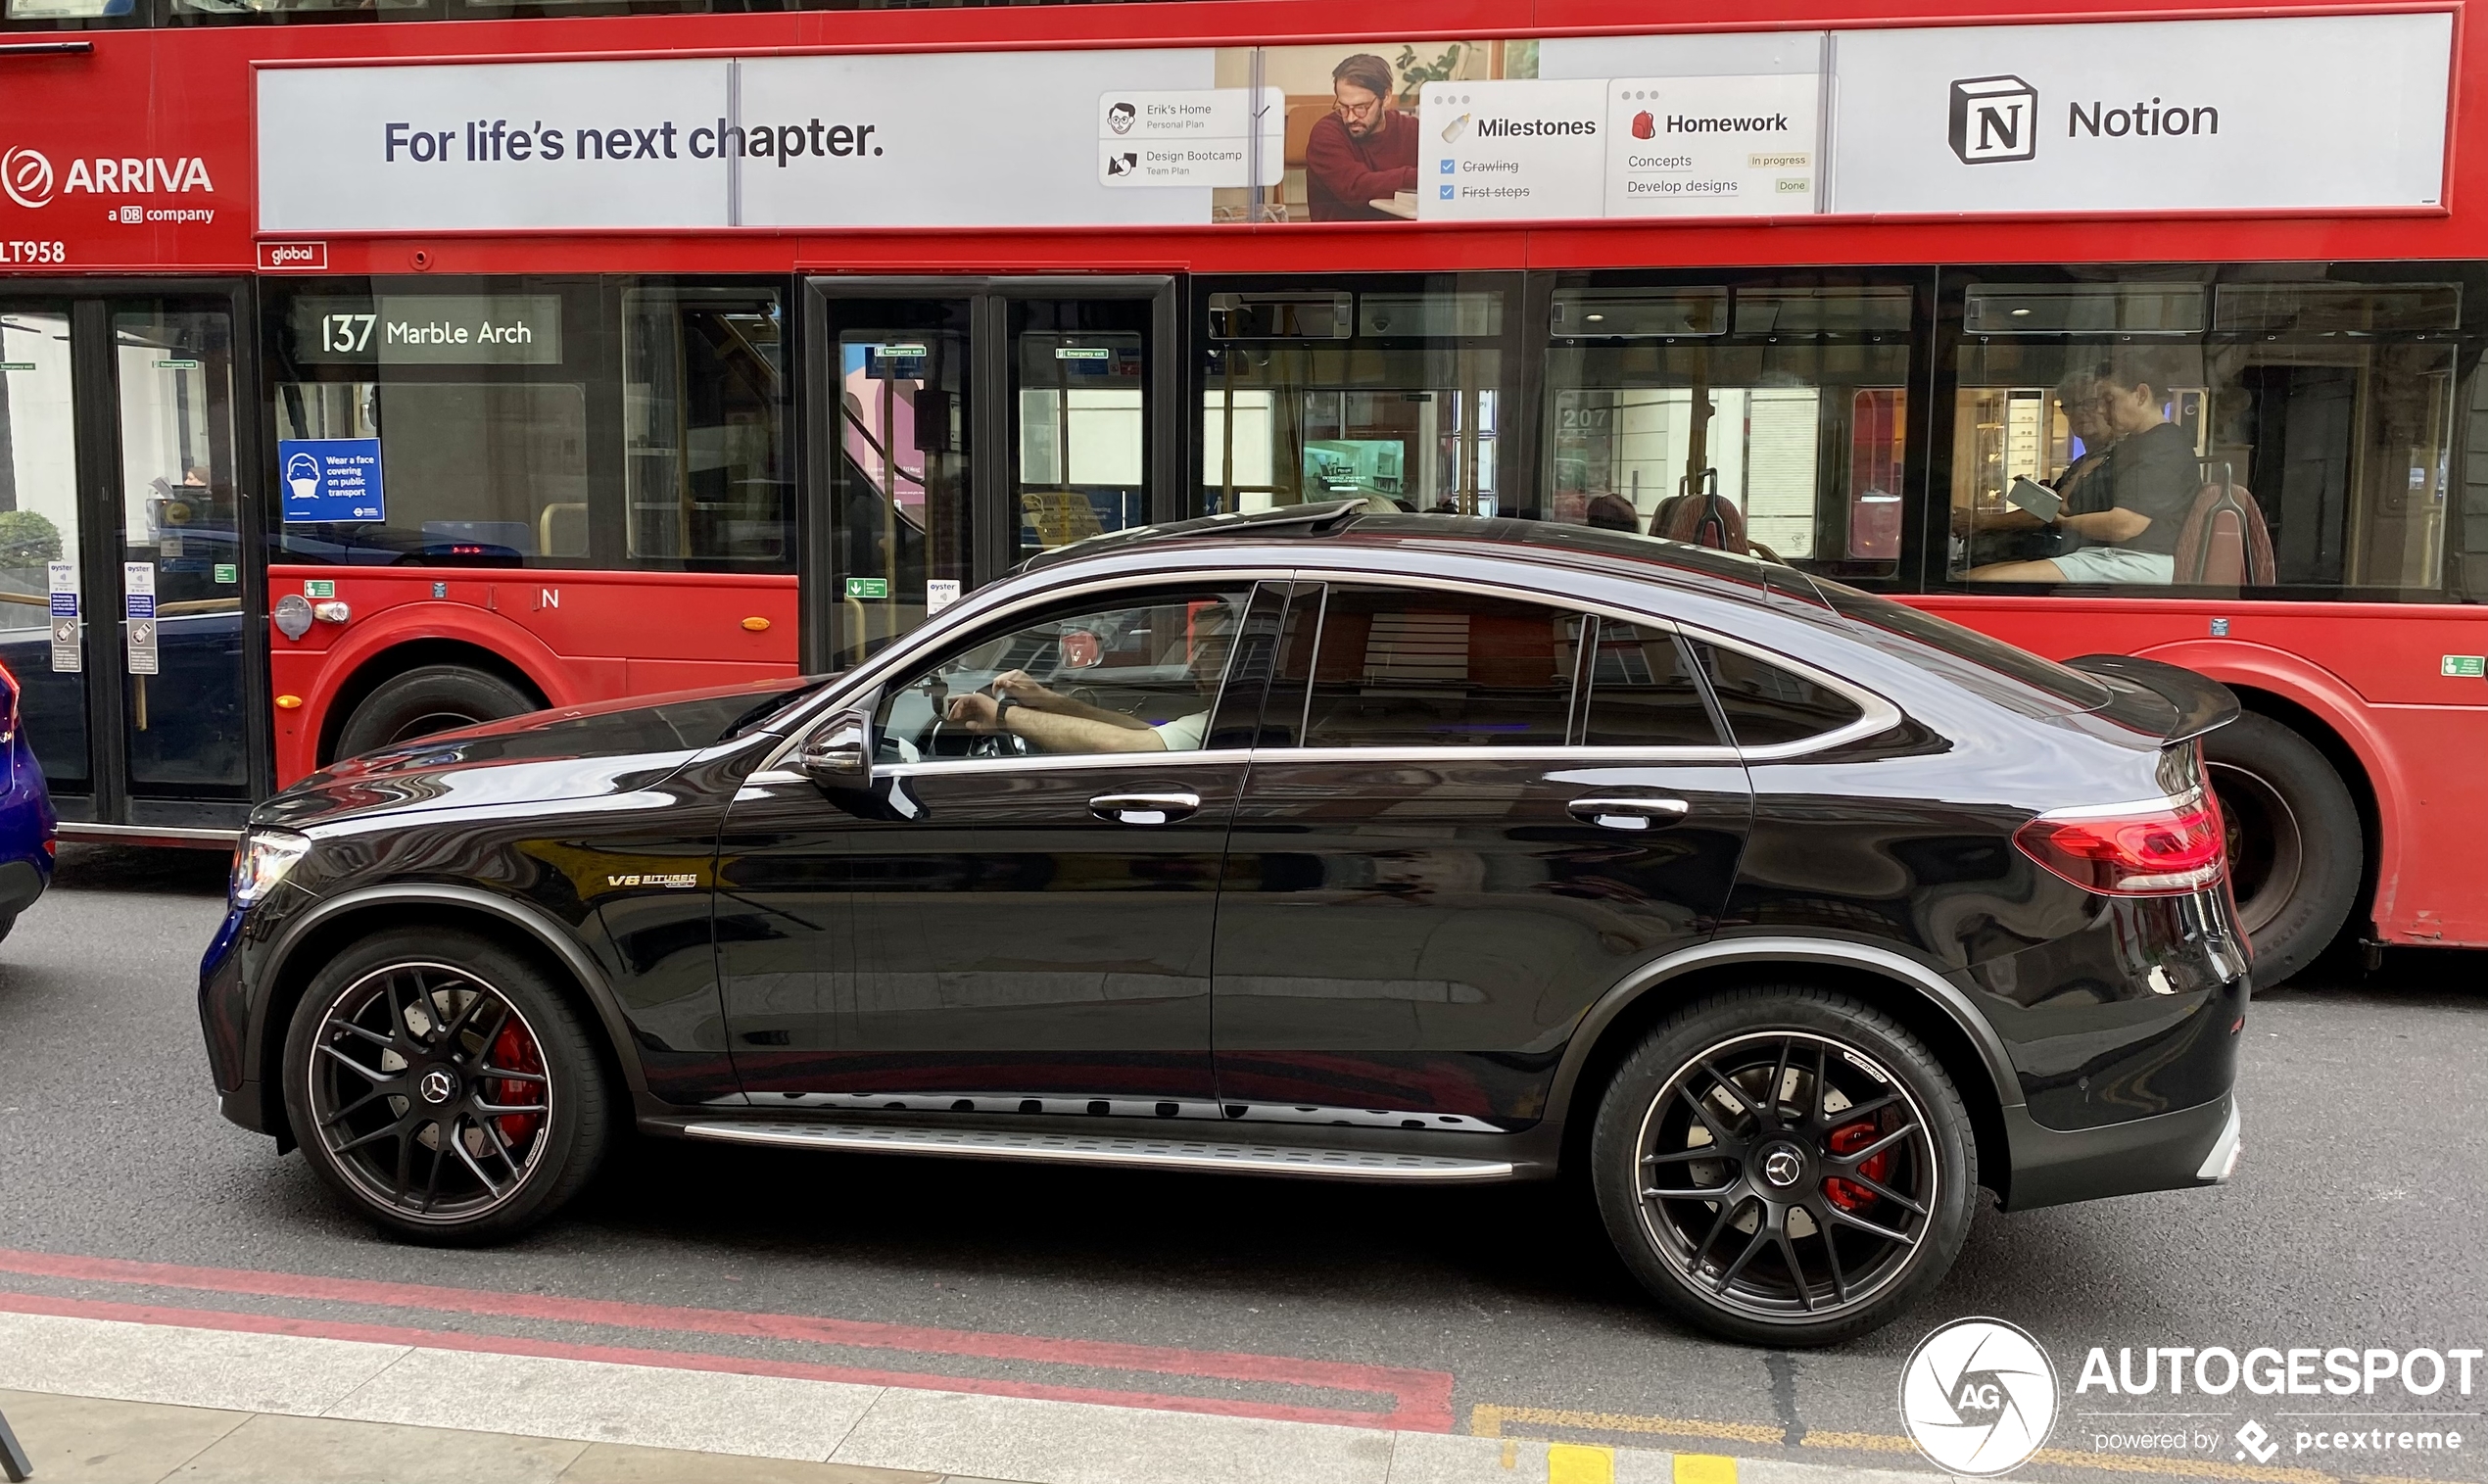
[[[2192,665],[2267,984],[2488,941],[2461,5],[764,5],[5,0],[70,832],[1358,498]]]

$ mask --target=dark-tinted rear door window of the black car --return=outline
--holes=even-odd
[[[1274,697],[1306,695],[1306,747],[1562,747],[1580,618],[1468,593],[1336,585],[1314,645],[1281,645]],[[1301,665],[1311,657],[1311,675]],[[1296,667],[1296,675],[1289,670]],[[1276,705],[1276,702],[1274,702]],[[1284,732],[1284,720],[1271,732]]]

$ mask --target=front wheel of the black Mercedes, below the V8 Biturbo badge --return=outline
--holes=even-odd
[[[336,956],[286,1033],[286,1118],[311,1165],[415,1242],[513,1237],[595,1175],[615,1093],[540,969],[488,939],[401,929]]]

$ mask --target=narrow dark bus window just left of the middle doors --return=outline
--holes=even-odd
[[[624,289],[622,476],[634,565],[794,570],[779,331],[771,289]]]

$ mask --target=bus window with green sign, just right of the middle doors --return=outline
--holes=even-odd
[[[1510,515],[1498,276],[1356,291],[1212,286],[1202,510],[1361,498],[1376,510]]]

